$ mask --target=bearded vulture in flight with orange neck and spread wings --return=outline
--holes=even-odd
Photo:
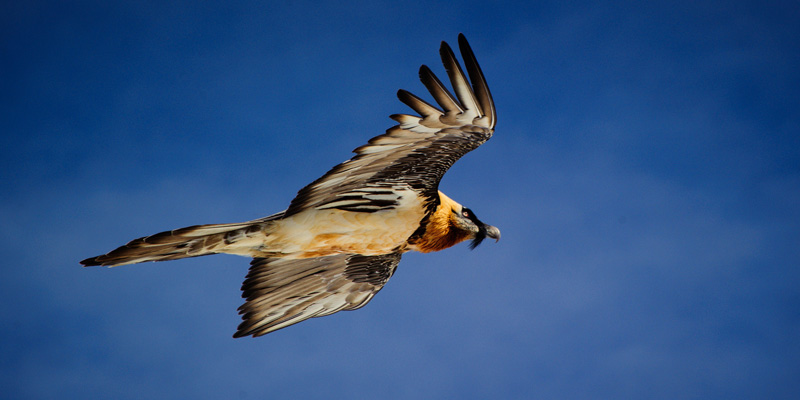
[[[353,150],[300,189],[289,206],[241,223],[193,225],[134,239],[83,266],[120,266],[210,254],[251,257],[242,284],[242,322],[233,337],[258,337],[313,317],[366,305],[394,274],[403,253],[429,253],[470,240],[474,249],[500,230],[439,190],[459,158],[492,137],[497,120],[483,72],[463,34],[467,71],[442,41],[453,92],[426,65],[419,78],[436,107],[400,89],[418,115]]]

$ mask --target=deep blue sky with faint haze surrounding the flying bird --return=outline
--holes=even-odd
[[[800,397],[796,1],[117,3],[0,12],[0,397]],[[499,243],[258,339],[245,258],[79,266],[284,209],[459,32]]]

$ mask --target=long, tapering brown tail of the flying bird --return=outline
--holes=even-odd
[[[269,217],[268,217],[269,218]],[[81,261],[85,267],[167,261],[216,253],[247,254],[262,242],[268,218],[233,224],[194,225],[134,239],[107,254]],[[251,240],[248,240],[251,239]]]

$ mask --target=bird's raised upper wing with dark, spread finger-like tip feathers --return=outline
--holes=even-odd
[[[441,110],[405,90],[398,91],[400,101],[419,116],[392,115],[398,125],[355,149],[353,158],[301,189],[286,216],[308,208],[392,208],[399,200],[392,194],[398,185],[411,187],[427,197],[429,207],[435,207],[444,173],[461,156],[489,140],[496,121],[492,95],[464,35],[458,36],[458,44],[472,84],[450,46],[442,42],[439,53],[455,96],[430,68],[420,67],[420,80]]]

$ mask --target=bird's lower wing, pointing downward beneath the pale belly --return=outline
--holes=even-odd
[[[255,258],[242,284],[242,322],[233,337],[261,336],[313,317],[355,310],[394,273],[400,253]]]

